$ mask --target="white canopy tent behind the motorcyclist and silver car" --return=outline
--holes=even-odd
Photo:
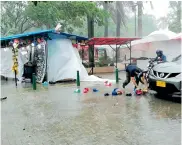
[[[132,57],[133,58],[154,58],[156,57],[156,50],[160,49],[167,56],[167,60],[171,61],[174,57],[181,53],[181,40],[176,40],[181,37],[180,34],[176,34],[167,30],[154,31],[143,39],[132,41]],[[126,55],[129,58],[129,51],[127,48],[121,50],[121,55]],[[137,65],[146,66],[148,60],[138,60]]]

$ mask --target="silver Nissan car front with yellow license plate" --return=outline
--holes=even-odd
[[[154,65],[149,74],[149,86],[158,94],[181,97],[181,55],[171,62]]]

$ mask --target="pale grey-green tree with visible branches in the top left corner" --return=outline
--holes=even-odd
[[[1,36],[24,33],[34,27],[34,23],[25,15],[26,2],[1,2]]]

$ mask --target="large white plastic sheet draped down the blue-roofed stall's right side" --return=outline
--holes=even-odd
[[[76,79],[77,70],[80,72],[80,80],[88,77],[78,51],[73,48],[70,40],[49,40],[48,48],[48,81]]]

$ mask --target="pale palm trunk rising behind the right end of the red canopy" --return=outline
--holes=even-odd
[[[142,1],[138,1],[137,5],[138,5],[138,37],[142,37],[142,15],[143,15]]]

